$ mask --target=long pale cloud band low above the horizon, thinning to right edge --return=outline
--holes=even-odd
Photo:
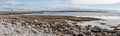
[[[56,5],[56,6],[43,6],[43,5],[14,5],[14,6],[6,6],[6,5],[2,5],[0,7],[0,11],[4,10],[4,11],[10,11],[10,10],[14,10],[14,11],[57,11],[57,10],[74,10],[74,9],[80,9],[80,10],[84,10],[84,9],[88,9],[88,10],[98,10],[98,9],[103,9],[103,10],[120,10],[117,8],[91,8],[89,6],[63,6],[63,5]]]

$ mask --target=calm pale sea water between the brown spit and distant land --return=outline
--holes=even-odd
[[[102,19],[120,19],[120,13],[99,13],[99,12],[44,12],[43,14],[34,13],[32,15],[77,16],[77,17],[95,17]]]

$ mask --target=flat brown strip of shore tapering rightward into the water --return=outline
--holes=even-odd
[[[0,13],[0,16],[3,16],[3,17],[11,17],[12,19],[13,18],[22,18],[22,19],[35,19],[35,20],[46,20],[47,18],[49,18],[49,20],[54,20],[54,19],[62,19],[62,20],[65,20],[65,19],[68,19],[68,20],[73,20],[73,21],[92,21],[92,20],[100,20],[98,18],[91,18],[91,17],[75,17],[75,16],[49,16],[49,15],[46,15],[46,16],[40,16],[40,15],[23,15],[23,14],[32,14],[31,12],[8,12],[8,13]],[[17,18],[17,19],[19,19]],[[46,18],[46,19],[45,19]],[[57,21],[55,20],[55,21]],[[34,21],[34,20],[31,20],[31,21]]]

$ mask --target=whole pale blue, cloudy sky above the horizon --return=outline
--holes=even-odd
[[[0,11],[94,8],[120,10],[120,0],[0,0]]]

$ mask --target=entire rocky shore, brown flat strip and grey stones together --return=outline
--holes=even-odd
[[[120,25],[108,30],[99,26],[82,26],[76,23],[100,20],[98,18],[14,14],[0,15],[0,36],[120,36]]]

